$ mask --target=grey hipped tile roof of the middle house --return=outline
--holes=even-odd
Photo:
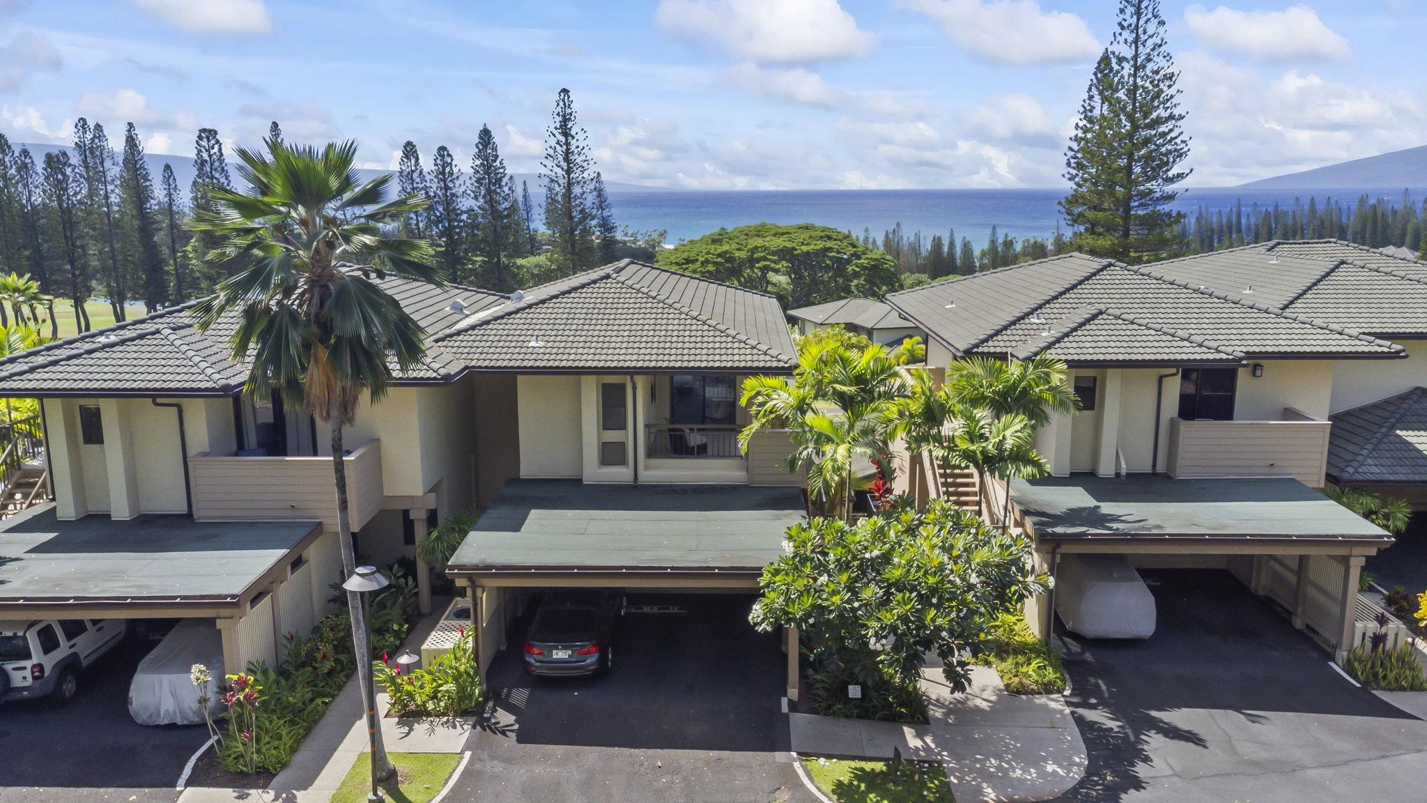
[[[778,300],[625,260],[535,287],[434,339],[472,370],[785,371]]]

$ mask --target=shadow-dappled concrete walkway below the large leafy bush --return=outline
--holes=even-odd
[[[1007,694],[995,669],[972,667],[952,694],[940,666],[922,670],[930,724],[789,714],[799,754],[939,762],[958,800],[1049,800],[1085,774],[1080,732],[1060,694]]]

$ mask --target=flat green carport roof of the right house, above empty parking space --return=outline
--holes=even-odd
[[[1176,480],[1072,474],[1012,480],[1012,499],[1050,542],[1294,543],[1381,547],[1387,532],[1291,477]]]

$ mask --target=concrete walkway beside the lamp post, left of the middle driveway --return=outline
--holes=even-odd
[[[402,646],[418,650],[445,612],[448,600],[432,600],[432,613],[418,622]],[[367,752],[367,722],[361,706],[358,676],[342,687],[317,727],[307,734],[293,762],[273,779],[268,789],[188,787],[178,803],[327,803],[347,777],[357,756]],[[387,694],[377,690],[377,712],[387,710]],[[388,753],[459,753],[471,734],[472,720],[415,720],[381,717],[381,737]]]

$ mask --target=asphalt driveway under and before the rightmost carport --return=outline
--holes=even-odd
[[[1427,722],[1353,686],[1326,650],[1223,572],[1144,572],[1144,642],[1067,637],[1089,750],[1062,800],[1420,800]]]

